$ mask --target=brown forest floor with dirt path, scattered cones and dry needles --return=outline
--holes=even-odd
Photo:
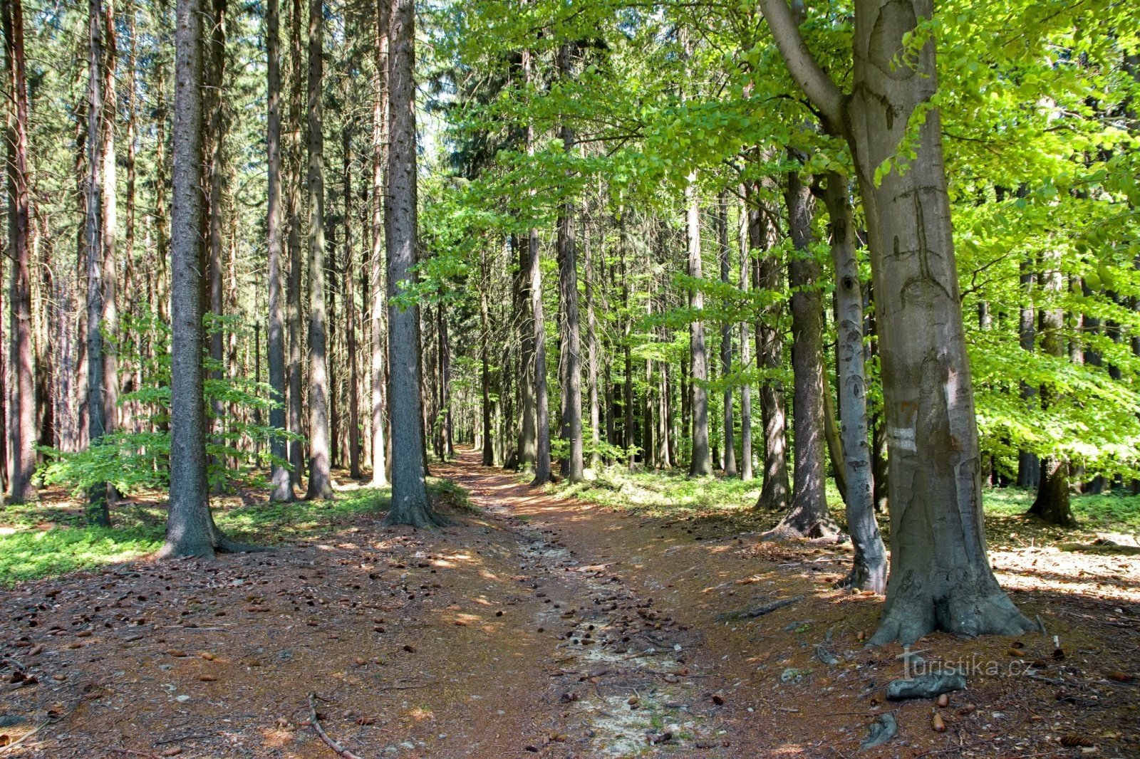
[[[834,589],[846,546],[563,499],[472,451],[433,473],[475,507],[435,533],[349,509],[272,553],[0,591],[0,756],[335,757],[318,725],[366,759],[1140,754],[1137,556],[994,547],[1048,635],[928,636],[968,688],[888,702],[903,651],[863,646],[882,598]]]

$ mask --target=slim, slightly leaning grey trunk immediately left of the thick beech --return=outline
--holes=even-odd
[[[866,376],[863,366],[863,289],[855,258],[855,226],[847,178],[829,172],[823,201],[828,207],[831,261],[836,269],[836,359],[839,364],[839,434],[847,474],[847,530],[855,557],[845,583],[887,589],[887,550],[874,517],[871,448],[866,431]]]

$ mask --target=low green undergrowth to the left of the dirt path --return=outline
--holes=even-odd
[[[448,480],[429,478],[427,491],[437,506],[474,511],[466,491]],[[331,501],[243,504],[236,497],[217,498],[213,509],[218,527],[234,538],[276,545],[335,532],[361,515],[378,517],[390,498],[389,488],[359,488],[337,491]],[[165,519],[164,500],[123,501],[112,509],[114,527],[89,527],[82,505],[58,491],[34,504],[3,506],[0,587],[150,554],[162,546]]]

